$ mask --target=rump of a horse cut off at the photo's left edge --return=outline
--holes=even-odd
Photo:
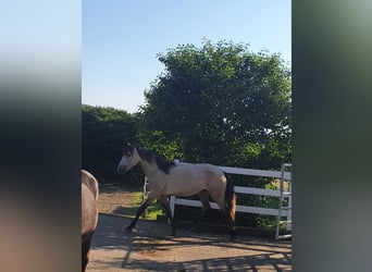
[[[82,271],[89,260],[91,236],[98,222],[98,182],[89,172],[82,170]]]

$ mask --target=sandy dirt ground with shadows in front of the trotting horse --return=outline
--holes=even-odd
[[[249,236],[234,243],[228,233],[177,228],[139,219],[131,234],[133,187],[100,184],[98,228],[87,272],[92,271],[292,271],[292,244]]]

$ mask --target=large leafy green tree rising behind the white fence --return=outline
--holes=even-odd
[[[158,55],[145,91],[145,127],[175,141],[184,160],[278,168],[290,159],[290,72],[277,54],[208,40]]]

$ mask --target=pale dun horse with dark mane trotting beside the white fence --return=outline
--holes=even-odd
[[[231,227],[231,240],[235,239],[236,196],[232,181],[218,166],[208,163],[176,164],[159,157],[153,151],[127,144],[117,165],[120,174],[139,164],[148,177],[147,200],[138,209],[136,217],[125,228],[127,233],[135,227],[138,218],[156,199],[160,199],[166,217],[171,221],[172,234],[176,235],[170,208],[170,196],[188,197],[198,195],[202,203],[201,217],[210,210],[209,196],[218,203]]]

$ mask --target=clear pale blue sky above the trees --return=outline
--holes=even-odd
[[[177,45],[232,40],[290,65],[289,0],[83,0],[82,102],[136,112]]]

